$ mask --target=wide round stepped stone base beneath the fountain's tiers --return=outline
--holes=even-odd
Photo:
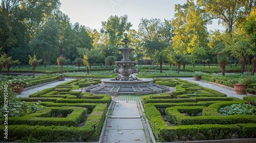
[[[86,88],[86,91],[93,94],[109,94],[111,96],[144,95],[169,91],[168,87],[157,85],[152,81],[152,79],[138,79],[133,81],[102,79],[101,84],[89,86]]]

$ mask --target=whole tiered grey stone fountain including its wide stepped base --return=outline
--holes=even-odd
[[[118,49],[123,59],[115,62],[118,68],[114,70],[120,77],[102,79],[100,84],[89,86],[86,91],[93,94],[110,94],[111,96],[143,95],[169,91],[168,87],[153,83],[153,79],[138,79],[135,76],[135,73],[138,73],[138,69],[135,68],[137,62],[129,59],[134,49],[127,46],[127,43],[131,41],[127,39],[127,34],[124,36],[125,38],[122,40],[124,47]]]

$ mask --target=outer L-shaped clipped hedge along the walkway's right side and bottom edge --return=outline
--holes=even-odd
[[[236,125],[205,124],[168,126],[166,122],[163,121],[160,112],[154,104],[145,104],[144,111],[158,142],[252,138],[256,136],[255,122]]]

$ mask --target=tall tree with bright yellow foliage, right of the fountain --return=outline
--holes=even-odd
[[[175,27],[173,46],[174,50],[183,54],[193,52],[195,46],[207,46],[207,24],[211,21],[205,10],[187,0],[184,5],[175,5],[175,19],[172,25]]]

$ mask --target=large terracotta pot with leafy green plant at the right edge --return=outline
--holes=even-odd
[[[234,87],[234,91],[237,94],[245,94],[245,89],[249,84],[255,83],[256,80],[254,78],[238,78],[238,79],[230,79],[228,80]]]

